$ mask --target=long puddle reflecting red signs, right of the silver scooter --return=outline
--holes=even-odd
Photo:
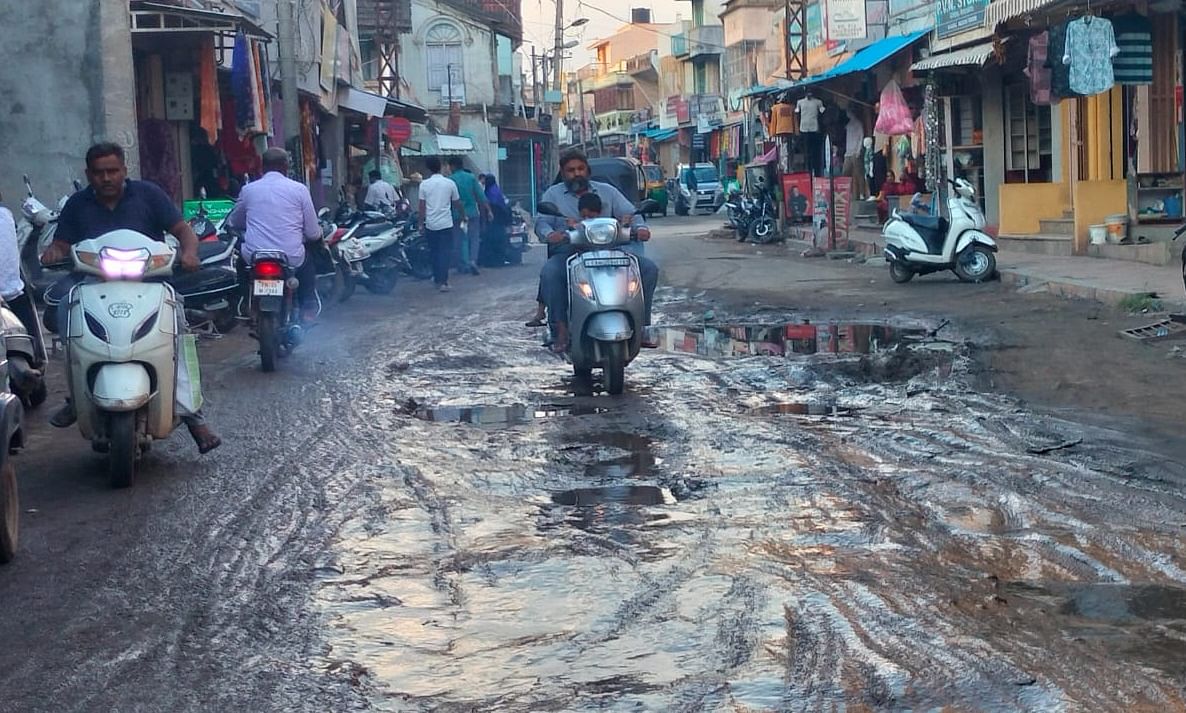
[[[706,324],[662,330],[659,348],[713,357],[876,354],[926,336],[923,327],[875,323]]]

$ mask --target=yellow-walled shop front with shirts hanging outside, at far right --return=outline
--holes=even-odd
[[[1184,202],[1182,30],[1177,9],[1156,7],[988,5],[986,26],[1010,45],[1001,233],[1019,244],[1169,261]]]

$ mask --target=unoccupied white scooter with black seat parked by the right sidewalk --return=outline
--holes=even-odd
[[[962,178],[949,180],[949,218],[903,214],[886,221],[885,256],[894,282],[950,269],[964,282],[982,282],[996,273],[996,242],[984,233],[976,190]]]

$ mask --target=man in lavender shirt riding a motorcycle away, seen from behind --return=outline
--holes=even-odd
[[[306,260],[305,242],[321,237],[313,197],[308,187],[287,176],[288,152],[269,148],[263,152],[263,177],[243,186],[227,224],[243,231],[242,259],[251,262],[257,250],[281,250],[289,267],[296,270],[296,299],[301,317],[317,317],[317,272]]]

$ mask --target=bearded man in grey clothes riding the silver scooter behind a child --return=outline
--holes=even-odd
[[[581,219],[580,197],[594,192],[601,197],[601,216],[614,217],[621,224],[631,225],[638,242],[625,246],[629,253],[638,257],[638,270],[643,279],[643,297],[645,301],[644,325],[651,324],[651,300],[659,281],[659,268],[655,262],[643,256],[640,243],[651,238],[651,231],[642,216],[635,215],[635,206],[618,189],[607,183],[589,180],[589,164],[584,153],[576,149],[566,151],[560,157],[560,174],[563,179],[550,186],[540,198],[541,203],[551,203],[563,217],[536,216],[535,234],[553,246],[562,246],[544,263],[540,272],[543,301],[548,307],[548,322],[551,324],[555,342],[553,351],[565,352],[568,349],[568,257],[572,249],[563,246],[568,240],[566,229],[569,222]],[[643,345],[656,346],[651,330],[643,330]]]

